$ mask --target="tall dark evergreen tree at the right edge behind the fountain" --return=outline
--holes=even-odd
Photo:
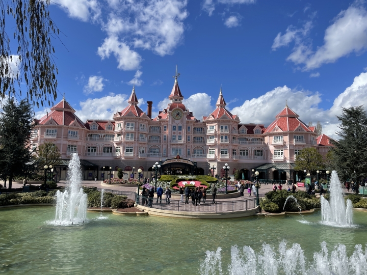
[[[343,181],[356,182],[358,193],[359,182],[367,174],[367,114],[363,106],[352,106],[342,108],[342,115],[336,117],[340,138],[330,140],[336,170]]]

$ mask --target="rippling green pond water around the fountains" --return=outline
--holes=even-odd
[[[6,274],[198,274],[207,250],[222,248],[222,267],[230,263],[231,245],[263,242],[277,248],[297,242],[308,260],[326,241],[332,250],[344,243],[348,256],[367,243],[367,213],[354,211],[356,228],[318,224],[320,212],[280,217],[253,216],[200,220],[88,213],[83,226],[47,225],[55,207],[0,211],[0,273]],[[303,221],[301,223],[300,221]]]

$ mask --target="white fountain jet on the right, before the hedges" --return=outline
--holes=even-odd
[[[330,203],[321,196],[321,223],[324,225],[349,227],[352,225],[352,202],[344,201],[343,190],[336,171],[331,173]]]

